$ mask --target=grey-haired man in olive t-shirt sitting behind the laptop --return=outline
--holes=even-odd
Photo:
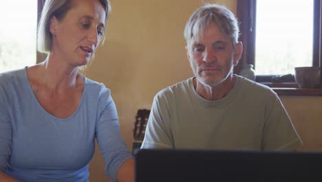
[[[206,4],[186,23],[186,52],[195,77],[154,98],[141,148],[294,150],[301,140],[279,97],[233,74],[242,43],[237,20]]]

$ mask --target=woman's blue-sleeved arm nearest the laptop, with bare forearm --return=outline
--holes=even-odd
[[[134,181],[134,161],[120,133],[116,105],[109,90],[101,91],[96,139],[105,161],[105,172],[114,181]]]

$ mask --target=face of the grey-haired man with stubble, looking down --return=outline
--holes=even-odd
[[[240,54],[239,51],[235,52],[231,37],[215,23],[210,23],[202,36],[192,39],[187,47],[187,55],[197,81],[210,87],[231,77]]]

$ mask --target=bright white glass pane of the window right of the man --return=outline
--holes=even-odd
[[[313,0],[257,0],[256,74],[312,65]]]

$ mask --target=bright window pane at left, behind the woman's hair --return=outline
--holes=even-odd
[[[0,72],[36,63],[37,1],[1,1]]]

